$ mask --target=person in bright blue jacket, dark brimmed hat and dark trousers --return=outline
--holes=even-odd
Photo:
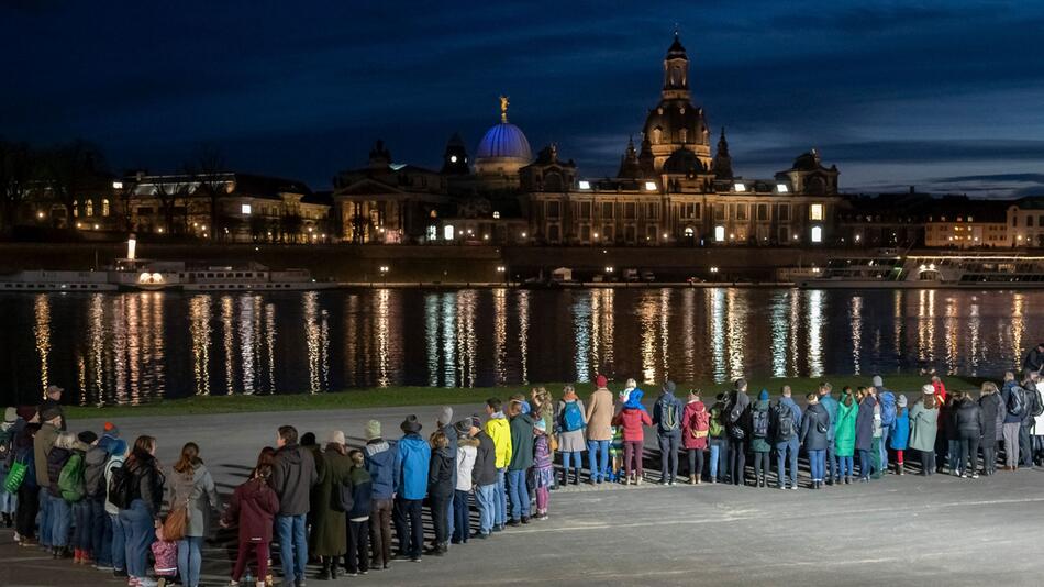
[[[424,545],[424,525],[421,523],[421,507],[427,497],[429,466],[432,450],[421,438],[421,423],[410,414],[399,425],[402,438],[396,445],[396,535],[399,536],[398,558],[419,562]]]

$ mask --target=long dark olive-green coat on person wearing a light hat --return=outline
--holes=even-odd
[[[347,521],[345,512],[334,507],[340,503],[341,487],[349,485],[352,458],[332,447],[315,462],[319,469],[319,484],[312,500],[312,540],[310,553],[316,556],[340,556],[348,551]]]

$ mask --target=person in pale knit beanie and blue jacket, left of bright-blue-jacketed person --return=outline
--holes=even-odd
[[[363,463],[373,483],[369,542],[374,552],[369,568],[385,569],[391,564],[391,510],[397,489],[399,452],[381,438],[380,422],[377,420],[366,422],[363,435],[366,439]]]

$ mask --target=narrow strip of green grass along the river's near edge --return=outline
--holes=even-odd
[[[779,388],[789,385],[796,397],[813,390],[820,381],[830,381],[835,391],[844,386],[867,386],[870,375],[824,375],[823,377],[754,377],[748,380],[752,395],[762,388],[768,389],[773,396],[779,394]],[[978,390],[985,378],[981,377],[945,377],[947,389]],[[929,376],[918,374],[886,375],[885,385],[900,394],[915,395],[922,385],[929,381]],[[66,407],[70,419],[84,418],[120,418],[127,416],[189,416],[201,413],[249,413],[249,412],[284,412],[284,411],[313,411],[340,410],[363,408],[392,408],[402,406],[442,406],[460,403],[481,403],[487,398],[506,398],[512,394],[526,392],[536,386],[547,387],[552,396],[562,396],[564,384],[530,384],[507,387],[386,387],[346,389],[329,394],[280,394],[271,396],[233,395],[233,396],[192,396],[182,399],[162,399],[135,406],[69,406]],[[658,385],[642,385],[645,399],[652,402],[658,395]],[[592,384],[577,384],[577,392],[581,398],[592,390]],[[613,391],[623,389],[623,381],[612,381],[609,388]],[[712,399],[720,391],[731,389],[726,383],[690,381],[678,384],[678,396],[691,388],[703,390],[703,399]],[[800,399],[800,397],[798,399]],[[914,398],[910,398],[914,399]]]

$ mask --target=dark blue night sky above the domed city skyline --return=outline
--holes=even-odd
[[[1044,3],[73,2],[0,8],[0,136],[84,137],[115,169],[232,167],[329,187],[382,137],[437,167],[511,96],[534,151],[611,174],[675,23],[736,171],[811,146],[846,191],[1044,193]],[[318,2],[315,3],[318,4]]]

